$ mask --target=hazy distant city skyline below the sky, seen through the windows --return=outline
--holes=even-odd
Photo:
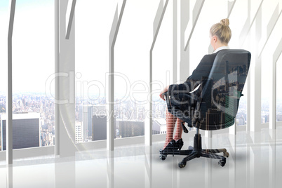
[[[6,107],[6,97],[4,95],[0,95],[0,112],[4,114],[4,107]],[[79,103],[80,102],[80,103]],[[83,104],[84,103],[84,104]],[[105,106],[105,101],[100,104],[89,104],[87,101],[79,101],[79,98],[76,98],[76,105],[89,105],[90,107],[97,106]],[[239,109],[236,115],[236,123],[238,126],[242,126],[246,124],[247,114],[246,114],[246,97],[242,97],[239,103]],[[145,108],[141,108],[137,110],[137,103],[131,100],[125,100],[125,102],[119,103],[115,105],[114,110],[119,114],[116,117],[118,121],[144,121],[145,118]],[[39,113],[40,114],[40,147],[54,145],[55,144],[55,116],[54,116],[54,102],[52,100],[48,100],[46,95],[43,93],[17,93],[17,95],[13,96],[13,113]],[[157,105],[153,105],[154,119],[160,119],[160,122],[165,122],[166,119],[166,103],[161,102]],[[75,113],[79,113],[77,110]],[[97,113],[97,112],[96,112]],[[138,114],[139,113],[139,114]],[[76,115],[78,118],[79,114]],[[161,121],[161,119],[163,119]],[[277,101],[277,112],[276,112],[276,120],[282,121],[282,100]],[[77,121],[77,119],[76,119]],[[82,122],[82,121],[79,121]],[[269,101],[262,100],[262,113],[261,113],[261,123],[269,122]],[[106,126],[106,125],[104,125]],[[159,124],[161,126],[161,124]],[[82,126],[77,128],[77,130],[82,131]],[[161,131],[160,131],[161,130]],[[120,130],[119,130],[120,131]],[[116,132],[119,133],[120,132]],[[156,128],[154,126],[154,134],[166,133],[166,130],[163,128]],[[76,135],[82,135],[81,133],[77,133]],[[92,133],[91,133],[92,134]],[[1,135],[1,134],[0,134]],[[76,137],[76,139],[79,139]],[[88,139],[84,139],[79,142],[88,142],[91,141],[92,137]]]

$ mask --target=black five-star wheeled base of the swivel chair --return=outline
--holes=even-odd
[[[223,156],[217,155],[217,153],[223,152]],[[161,154],[160,159],[165,160],[167,155],[186,155],[186,157],[178,163],[178,166],[180,168],[184,168],[187,164],[187,161],[190,161],[194,158],[199,157],[206,157],[210,159],[220,159],[218,162],[219,166],[224,166],[226,163],[226,157],[229,157],[229,153],[225,148],[223,149],[202,149],[201,144],[201,135],[197,133],[194,136],[194,147],[189,146],[189,149],[187,150],[170,150],[166,152],[166,154]]]

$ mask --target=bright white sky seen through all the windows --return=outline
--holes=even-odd
[[[153,51],[153,89],[173,83],[173,1],[169,1],[163,18],[159,36]],[[196,0],[190,1],[190,20]],[[262,43],[266,40],[267,24],[271,18],[278,0],[264,1],[262,8]],[[105,77],[109,63],[109,30],[112,26],[116,5],[120,10],[122,1],[76,1],[76,83],[86,84],[88,91],[95,92],[98,85],[105,88]],[[8,0],[0,2],[0,49],[1,67],[6,65],[6,36],[8,33]],[[260,1],[251,1],[250,18],[256,13]],[[281,4],[281,2],[280,2]],[[149,49],[153,39],[153,22],[159,1],[142,0],[126,3],[121,27],[114,48],[116,76],[115,92],[123,95],[126,90],[146,90],[149,86]],[[246,43],[240,43],[240,34],[247,16],[247,2],[237,0],[230,16],[232,38],[230,48],[248,48]],[[220,11],[218,11],[220,10]],[[279,6],[279,11],[281,10]],[[199,61],[208,53],[210,26],[227,17],[226,0],[206,0],[198,23],[190,41],[190,69],[187,77],[196,68]],[[46,81],[54,72],[54,6],[53,0],[17,0],[13,32],[13,91],[44,92]],[[268,97],[269,92],[264,86],[269,85],[269,63],[278,41],[281,39],[282,25],[279,18],[277,26],[267,42],[262,53],[262,96]],[[253,26],[255,27],[255,26]],[[251,32],[255,33],[253,30]],[[189,32],[188,32],[189,33]],[[250,36],[254,40],[254,36]],[[255,46],[250,49],[255,51]],[[255,57],[255,56],[253,56]],[[270,57],[270,58],[269,58]],[[281,58],[278,60],[278,67]],[[281,66],[280,66],[281,67]],[[277,74],[280,78],[280,74]],[[1,88],[6,88],[6,71],[0,75]],[[87,84],[88,83],[88,84]],[[126,83],[129,83],[129,85]],[[54,86],[51,82],[51,88]],[[100,87],[102,88],[102,87]],[[79,91],[81,92],[81,90]],[[281,87],[278,87],[281,92]]]

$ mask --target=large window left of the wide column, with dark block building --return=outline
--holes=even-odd
[[[8,12],[10,7],[8,4],[6,7]],[[5,18],[7,22],[8,18],[8,16]],[[5,38],[3,41],[7,41],[8,25],[3,28],[1,37]],[[7,43],[4,44],[4,48],[7,49]],[[4,51],[7,51],[6,49]],[[7,53],[3,56],[7,57]],[[4,58],[1,62],[7,62],[7,59]],[[6,74],[6,71],[4,72]],[[46,86],[46,83],[53,72],[53,1],[16,1],[13,27],[13,149],[55,144],[54,103],[46,95],[50,93],[52,87]],[[6,86],[6,79],[4,81],[3,86]],[[5,89],[1,88],[1,92]],[[2,149],[5,150],[6,100],[3,96],[1,95],[0,99],[0,119]]]

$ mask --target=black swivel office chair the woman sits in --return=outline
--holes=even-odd
[[[168,108],[168,111],[186,122],[189,127],[196,128],[194,147],[190,146],[187,150],[170,149],[161,154],[161,160],[165,160],[168,154],[186,155],[178,164],[180,168],[184,168],[187,161],[203,156],[220,159],[218,164],[225,165],[226,157],[229,156],[227,149],[202,149],[199,129],[218,130],[234,124],[250,67],[250,56],[250,52],[245,50],[220,51],[215,57],[208,78],[202,78],[199,88],[193,92],[177,94],[184,95],[184,98],[190,101],[189,107],[187,106],[187,110],[173,107]],[[166,98],[167,103],[171,104],[172,97],[166,96]],[[184,133],[188,133],[184,123],[182,128]],[[223,156],[217,155],[220,152],[223,152]]]

